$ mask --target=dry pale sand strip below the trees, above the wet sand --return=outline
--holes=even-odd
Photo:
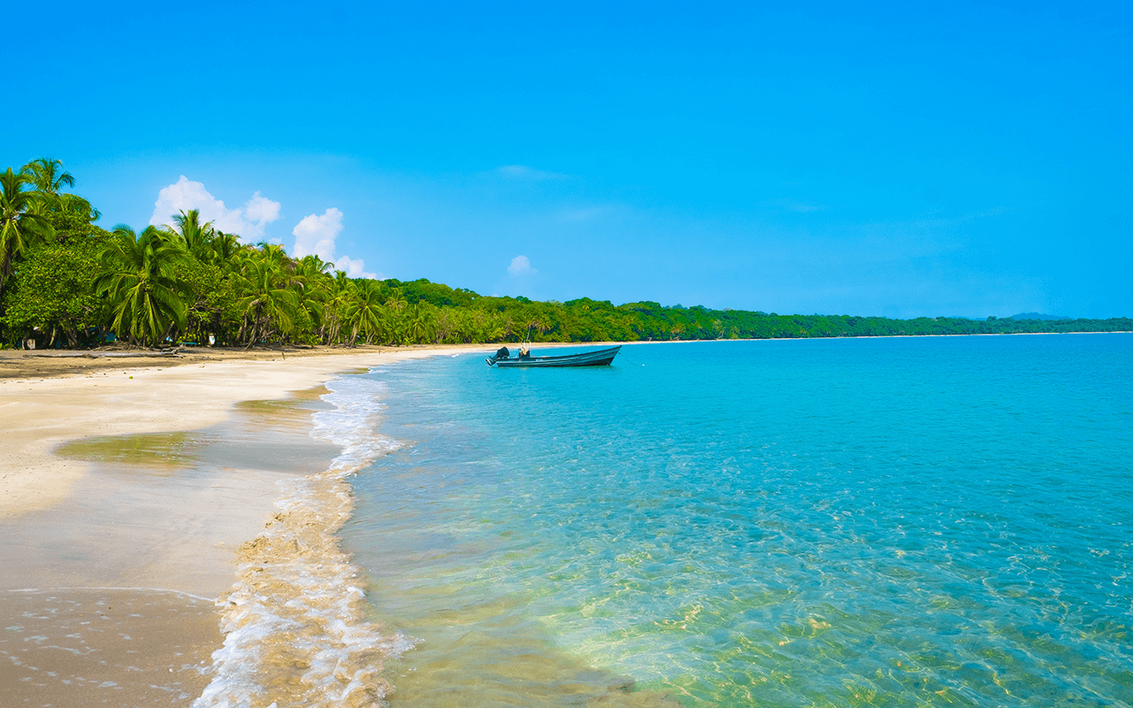
[[[278,352],[255,352],[262,356],[252,358],[210,355],[177,362],[116,359],[90,372],[74,370],[75,358],[67,357],[45,376],[0,377],[0,521],[59,503],[90,470],[87,463],[54,454],[63,443],[198,430],[224,421],[237,403],[286,399],[344,370],[480,350],[482,346],[374,347],[287,359]],[[37,357],[43,355],[19,358]],[[33,366],[48,368],[43,361]]]

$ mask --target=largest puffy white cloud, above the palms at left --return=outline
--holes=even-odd
[[[258,240],[267,224],[280,217],[280,203],[261,196],[258,191],[242,207],[230,210],[224,202],[208,194],[202,182],[189,181],[181,174],[181,179],[157,193],[150,223],[155,227],[172,225],[177,213],[194,208],[201,212],[202,222],[211,221],[214,228],[236,233],[244,241]]]

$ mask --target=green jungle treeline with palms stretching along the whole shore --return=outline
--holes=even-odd
[[[0,343],[424,344],[1133,331],[1133,319],[889,319],[777,315],[582,298],[485,297],[427,280],[351,279],[318,256],[244,244],[201,221],[97,225],[41,157],[0,173]]]

